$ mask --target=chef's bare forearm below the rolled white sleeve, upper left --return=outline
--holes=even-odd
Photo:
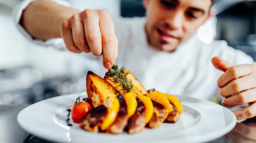
[[[61,38],[62,22],[79,12],[48,0],[35,1],[23,11],[21,24],[37,39]]]

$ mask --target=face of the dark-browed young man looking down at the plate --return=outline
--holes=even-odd
[[[144,0],[150,45],[173,52],[205,22],[210,0]]]

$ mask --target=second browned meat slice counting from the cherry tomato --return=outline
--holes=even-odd
[[[118,95],[117,98],[120,103],[119,111],[117,113],[117,117],[115,121],[106,131],[107,133],[111,133],[111,134],[123,133],[124,128],[126,127],[128,122],[128,112],[127,112],[127,106],[124,100],[124,96]]]

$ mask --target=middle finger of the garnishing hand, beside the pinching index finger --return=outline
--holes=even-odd
[[[84,10],[85,37],[91,53],[95,56],[102,55],[102,35],[99,28],[99,17],[95,10]]]

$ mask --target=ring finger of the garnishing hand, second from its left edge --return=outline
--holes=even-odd
[[[72,27],[72,36],[73,40],[75,42],[75,45],[84,53],[90,53],[90,48],[87,43],[87,40],[85,38],[85,32],[84,32],[84,24],[77,20],[79,15],[75,14],[71,18],[73,18],[73,22],[71,23]]]

